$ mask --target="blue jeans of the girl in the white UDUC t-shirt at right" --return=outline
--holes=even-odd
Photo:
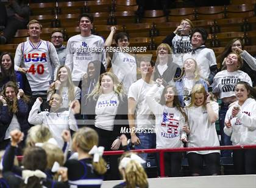
[[[225,117],[228,109],[228,104],[222,103],[221,109],[219,110],[219,131],[221,133],[221,146],[232,146],[232,142],[230,141],[231,137],[227,136],[223,130],[225,126]],[[231,150],[221,150],[221,156],[231,157],[231,153]]]

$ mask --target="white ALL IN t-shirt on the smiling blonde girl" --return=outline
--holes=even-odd
[[[95,127],[113,130],[119,99],[115,92],[101,94],[95,107]]]

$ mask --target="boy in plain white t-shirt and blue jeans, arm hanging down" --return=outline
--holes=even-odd
[[[155,148],[155,133],[149,133],[147,130],[155,128],[155,118],[146,102],[146,93],[154,85],[151,79],[154,62],[146,58],[139,62],[141,79],[134,82],[128,92],[128,119],[132,130],[130,135],[135,149],[151,149]],[[143,129],[143,132],[136,134],[133,127],[138,130]],[[146,159],[147,154],[144,153],[142,157]]]

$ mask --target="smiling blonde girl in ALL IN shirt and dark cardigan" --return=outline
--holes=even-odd
[[[121,144],[121,127],[127,127],[127,96],[116,75],[103,73],[97,86],[88,96],[85,104],[87,125],[93,127],[99,135],[99,146],[105,150],[118,150]],[[113,180],[118,178],[116,155],[110,156],[110,172]]]

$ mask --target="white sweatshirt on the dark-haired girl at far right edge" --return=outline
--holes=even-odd
[[[234,106],[239,106],[238,101]],[[232,116],[233,107],[227,110],[225,121],[229,121],[232,127],[224,127],[224,133],[231,136],[233,145],[256,144],[256,101],[252,98],[246,99],[240,106],[240,112]]]

